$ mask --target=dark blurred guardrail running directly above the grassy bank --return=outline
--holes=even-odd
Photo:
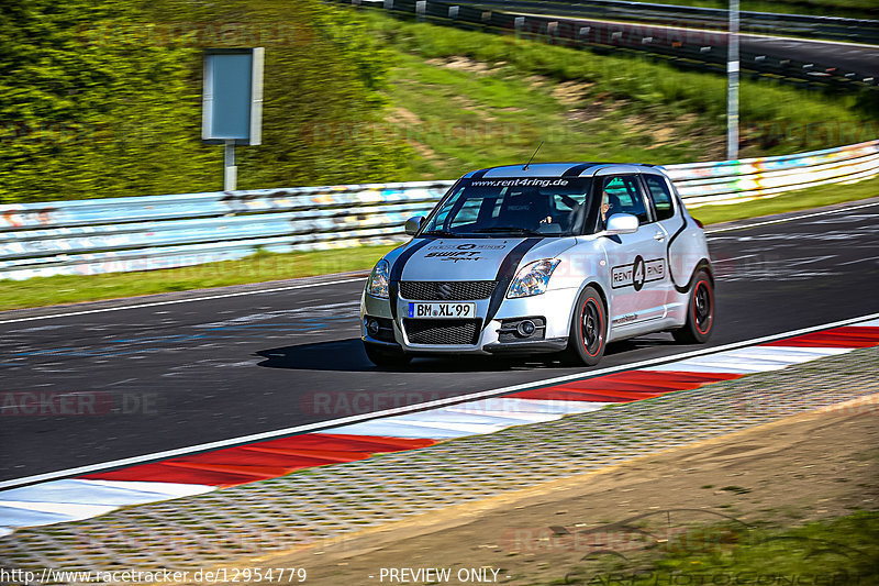
[[[516,9],[512,7],[492,9],[468,3],[478,0],[468,0],[465,3],[454,0],[335,1],[342,4],[385,9],[400,18],[426,20],[458,29],[515,34],[522,38],[549,44],[588,47],[597,52],[646,53],[670,60],[679,67],[726,74],[728,41],[724,30],[575,20],[559,15],[522,14],[515,12]],[[808,30],[804,30],[803,34],[808,34]],[[805,62],[785,55],[774,55],[766,51],[750,52],[744,47],[739,51],[739,67],[753,76],[771,77],[798,85],[830,85],[841,89],[879,88],[879,79],[870,71],[858,71],[814,60]]]

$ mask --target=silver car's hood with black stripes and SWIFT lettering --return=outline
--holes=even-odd
[[[521,258],[511,267],[516,268],[555,257],[575,242],[574,237],[413,239],[388,261],[400,280],[493,280],[508,256]]]

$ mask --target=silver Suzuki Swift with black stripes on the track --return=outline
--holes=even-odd
[[[377,365],[554,352],[593,365],[615,340],[711,335],[702,225],[657,167],[481,169],[405,229],[412,240],[378,262],[361,298],[363,341]]]

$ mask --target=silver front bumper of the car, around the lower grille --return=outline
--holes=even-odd
[[[578,295],[577,289],[555,289],[543,295],[507,299],[501,302],[498,312],[488,323],[486,318],[489,309],[489,299],[477,300],[476,318],[479,320],[479,331],[475,335],[475,343],[467,344],[420,344],[413,343],[402,322],[407,314],[408,299],[397,300],[397,319],[391,313],[390,301],[364,294],[360,302],[360,334],[364,342],[377,345],[397,345],[410,354],[536,354],[558,352],[567,345],[570,330],[570,316]],[[393,330],[393,342],[390,332],[382,329],[376,336],[366,331],[365,318],[383,318],[380,320]],[[538,328],[539,336],[519,339],[509,334],[502,335],[501,325],[507,320],[509,330],[510,320],[525,318],[543,318],[544,324]],[[387,320],[387,321],[386,321]],[[448,320],[452,321],[452,320]],[[539,322],[538,322],[539,324]]]

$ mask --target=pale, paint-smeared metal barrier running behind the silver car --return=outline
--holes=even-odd
[[[668,165],[690,208],[879,175],[879,140],[776,157]],[[402,242],[453,181],[260,189],[0,206],[0,278],[93,275]]]

